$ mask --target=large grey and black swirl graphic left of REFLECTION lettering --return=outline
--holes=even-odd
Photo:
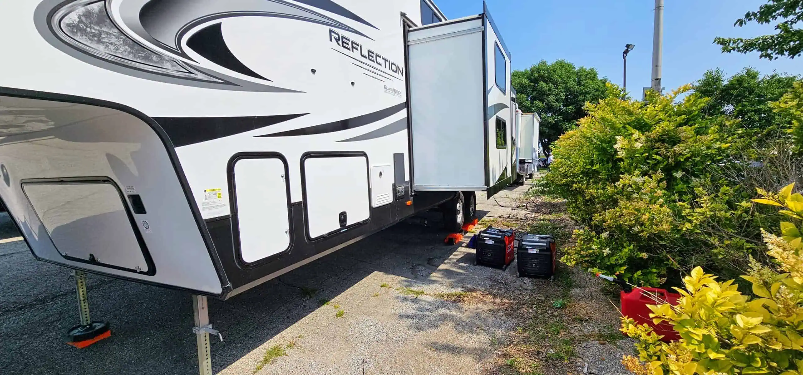
[[[271,84],[269,76],[243,64],[223,40],[222,20],[243,16],[286,18],[370,39],[317,11],[325,10],[377,29],[332,0],[296,2],[304,6],[284,0],[44,0],[36,9],[35,22],[48,43],[104,69],[203,88],[296,92]],[[214,66],[196,61],[184,46]]]

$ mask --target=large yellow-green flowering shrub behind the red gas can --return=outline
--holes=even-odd
[[[750,199],[757,187],[803,182],[789,135],[803,122],[803,84],[767,104],[780,123],[757,128],[708,114],[711,99],[689,89],[638,102],[609,85],[556,141],[539,184],[584,226],[565,263],[658,286],[680,285],[697,266],[734,278],[751,256],[766,260],[761,228],[777,226],[777,215]]]

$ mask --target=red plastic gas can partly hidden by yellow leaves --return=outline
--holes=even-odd
[[[661,324],[654,324],[650,314],[652,310],[647,306],[652,304],[678,304],[680,295],[678,293],[670,293],[665,289],[657,289],[654,287],[639,287],[633,291],[621,291],[619,296],[622,299],[622,314],[635,320],[636,324],[647,324],[654,329],[658,335],[662,335],[662,341],[680,340],[680,336],[675,329],[672,329],[672,324],[662,322]]]

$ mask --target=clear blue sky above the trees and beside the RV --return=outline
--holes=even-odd
[[[479,14],[481,0],[434,0],[448,18]],[[694,82],[708,69],[733,74],[744,67],[803,75],[803,56],[773,61],[723,54],[716,36],[752,37],[773,34],[772,26],[734,27],[763,0],[666,0],[664,11],[663,81],[667,91]],[[622,50],[636,45],[627,58],[627,85],[632,96],[650,86],[653,0],[488,0],[488,8],[513,55],[513,69],[545,59],[566,59],[594,67],[601,76],[622,84]]]

